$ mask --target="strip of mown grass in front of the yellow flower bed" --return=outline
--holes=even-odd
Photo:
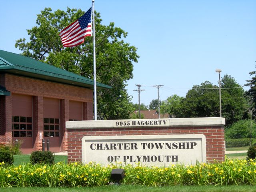
[[[1,192],[256,192],[255,186],[168,186],[147,187],[134,185],[83,187],[83,188],[1,188]]]

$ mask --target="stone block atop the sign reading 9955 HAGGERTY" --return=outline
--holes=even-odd
[[[170,121],[168,120],[114,120],[113,127],[127,127],[127,126],[169,126]]]

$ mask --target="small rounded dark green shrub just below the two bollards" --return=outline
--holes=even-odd
[[[30,154],[30,163],[31,164],[53,164],[54,155],[51,151],[33,151]]]

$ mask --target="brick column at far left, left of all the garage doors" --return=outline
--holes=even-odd
[[[0,143],[12,142],[12,95],[0,96]]]

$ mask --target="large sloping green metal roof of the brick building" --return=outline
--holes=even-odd
[[[94,85],[94,81],[89,78],[22,56],[20,54],[3,50],[0,50],[0,72],[1,71],[91,89],[93,89]],[[96,85],[98,89],[112,88],[111,86],[99,82],[97,82]]]

